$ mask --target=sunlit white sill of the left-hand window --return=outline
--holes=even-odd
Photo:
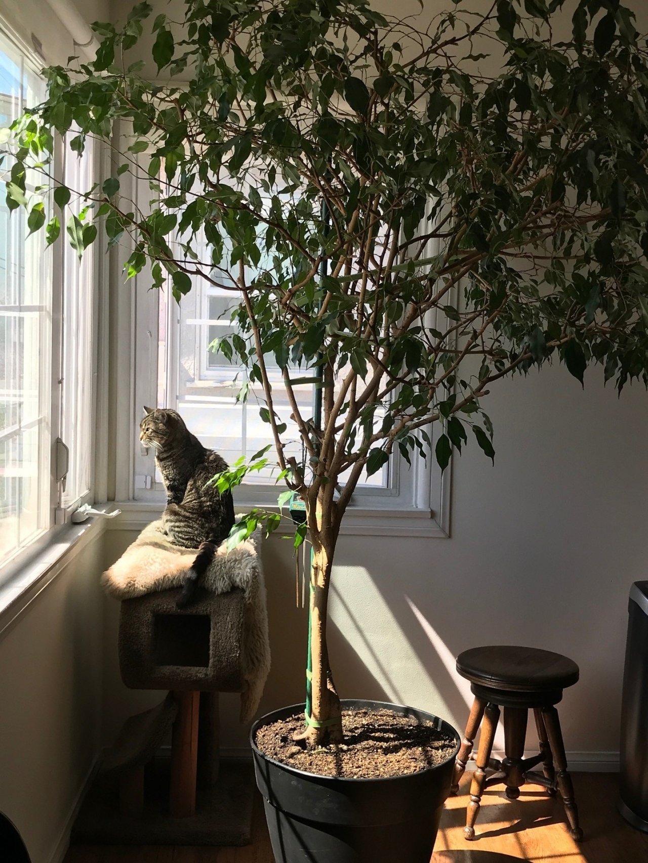
[[[54,528],[40,547],[28,548],[0,570],[0,638],[79,551],[98,539],[105,519]]]

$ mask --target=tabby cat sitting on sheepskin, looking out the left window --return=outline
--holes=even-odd
[[[227,463],[217,452],[207,450],[187,429],[181,415],[169,408],[144,406],[139,427],[144,446],[156,450],[156,464],[167,489],[164,532],[175,545],[200,550],[176,602],[178,608],[184,608],[193,600],[217,545],[234,524],[232,493],[219,494],[208,484],[215,474],[227,470]]]

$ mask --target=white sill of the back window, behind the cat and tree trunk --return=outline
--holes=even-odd
[[[154,501],[124,501],[116,506],[122,511],[106,524],[106,530],[141,531],[151,521],[160,518],[163,504]],[[264,507],[264,504],[259,504]],[[241,511],[250,507],[238,507]],[[265,507],[276,509],[276,507]],[[277,530],[273,536],[283,536]],[[349,507],[342,521],[342,536],[391,536],[448,539],[448,531],[437,520],[436,513],[415,507]]]

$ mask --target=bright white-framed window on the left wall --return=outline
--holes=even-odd
[[[0,129],[44,98],[39,62],[0,33]],[[87,191],[95,173],[92,147],[77,157],[63,144],[54,176]],[[93,247],[79,264],[62,240],[46,248],[44,230],[28,236],[28,213],[6,204],[10,167],[6,155],[0,167],[0,567],[64,523],[92,485]],[[42,183],[35,173],[27,177],[30,205],[42,200],[36,189]],[[73,196],[62,232],[84,207]],[[86,221],[90,216],[87,211]]]

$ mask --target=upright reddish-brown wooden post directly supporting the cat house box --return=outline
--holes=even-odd
[[[171,738],[169,808],[174,818],[187,818],[196,810],[200,692],[176,692],[175,697],[178,715]]]

